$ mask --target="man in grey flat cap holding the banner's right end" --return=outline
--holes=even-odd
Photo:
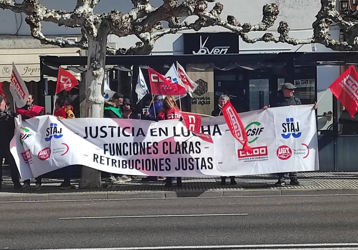
[[[295,85],[290,82],[285,82],[284,85],[281,87],[281,91],[278,92],[278,98],[275,102],[274,107],[284,107],[284,106],[291,106],[291,105],[302,105],[302,102],[299,98],[297,98],[295,94]],[[264,106],[263,109],[266,110],[270,107]],[[317,109],[317,102],[314,104],[314,109]],[[289,174],[290,177],[290,185],[299,186],[301,183],[297,180],[297,172],[290,172],[290,173],[278,173],[279,180],[274,184],[275,186],[284,186],[286,185],[285,182],[285,175]]]

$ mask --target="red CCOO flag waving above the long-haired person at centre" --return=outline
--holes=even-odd
[[[148,67],[150,88],[153,95],[185,95],[187,91],[184,87],[176,84]]]

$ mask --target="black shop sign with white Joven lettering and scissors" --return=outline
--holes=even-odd
[[[224,55],[237,54],[238,36],[235,33],[184,34],[184,54]]]

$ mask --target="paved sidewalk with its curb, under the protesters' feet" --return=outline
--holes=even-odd
[[[135,199],[173,197],[227,197],[257,195],[328,195],[358,194],[358,172],[306,172],[299,173],[301,186],[275,187],[275,175],[252,175],[236,177],[237,185],[220,185],[220,177],[183,178],[183,186],[169,189],[163,181],[142,182],[141,177],[125,184],[106,185],[102,189],[78,189],[78,179],[73,188],[61,190],[61,179],[43,179],[39,191],[20,191],[13,188],[9,172],[4,171],[1,201],[30,200],[89,200],[89,199]],[[32,180],[34,182],[34,180]],[[289,183],[289,180],[286,181]],[[229,179],[227,179],[229,183]],[[32,183],[32,185],[35,185]]]

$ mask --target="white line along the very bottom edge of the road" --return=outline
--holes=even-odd
[[[325,248],[322,248],[325,247]],[[320,243],[320,244],[269,244],[269,245],[218,245],[218,246],[150,246],[150,247],[129,247],[129,248],[61,248],[48,250],[170,250],[170,249],[246,249],[246,250],[313,250],[313,249],[331,249],[331,250],[353,250],[357,249],[358,243]],[[40,250],[40,249],[37,249]]]

